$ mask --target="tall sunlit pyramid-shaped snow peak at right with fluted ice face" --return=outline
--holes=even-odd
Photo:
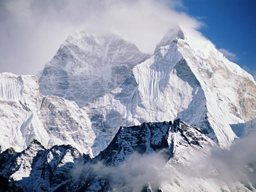
[[[249,73],[197,32],[179,28],[170,30],[154,55],[136,65],[119,87],[84,109],[100,150],[119,126],[175,118],[228,147],[236,137],[229,124],[255,118],[255,103],[256,85]]]

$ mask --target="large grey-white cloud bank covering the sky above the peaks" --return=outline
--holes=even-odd
[[[36,74],[72,32],[114,31],[152,52],[175,25],[201,23],[175,9],[181,1],[26,0],[0,2],[0,72]]]

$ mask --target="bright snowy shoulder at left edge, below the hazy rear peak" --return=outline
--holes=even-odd
[[[73,101],[43,96],[35,76],[0,73],[0,145],[24,150],[34,139],[46,148],[71,144],[91,153],[95,134],[86,113]]]

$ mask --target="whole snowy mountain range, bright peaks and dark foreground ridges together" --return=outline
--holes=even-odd
[[[256,191],[254,155],[232,179],[210,156],[254,144],[256,83],[198,32],[151,57],[79,32],[38,76],[0,73],[0,192]]]

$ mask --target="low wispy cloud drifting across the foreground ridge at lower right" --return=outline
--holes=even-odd
[[[190,186],[192,191],[196,185],[201,186],[196,178],[202,178],[211,185],[219,185],[223,181],[227,184],[241,181],[245,186],[249,186],[248,183],[255,186],[255,136],[251,134],[236,139],[229,149],[212,148],[206,156],[202,155],[203,151],[194,150],[193,158],[187,164],[173,164],[171,161],[166,163],[167,151],[163,150],[152,154],[132,154],[118,166],[106,166],[102,162],[76,164],[71,173],[73,180],[77,182],[81,181],[80,176],[84,176],[83,180],[91,180],[90,174],[94,178],[110,180],[116,191],[137,192],[148,183],[153,189],[157,189],[162,184],[172,185],[174,182],[178,182],[181,189]]]

